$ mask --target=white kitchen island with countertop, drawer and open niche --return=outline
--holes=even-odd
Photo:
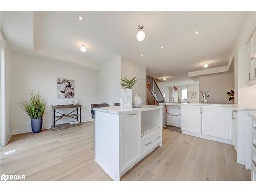
[[[162,108],[94,108],[95,161],[113,180],[162,146]]]

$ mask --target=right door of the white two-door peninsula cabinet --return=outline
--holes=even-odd
[[[229,108],[202,106],[202,134],[228,139]]]

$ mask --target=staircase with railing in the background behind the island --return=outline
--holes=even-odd
[[[147,98],[147,104],[148,105],[159,105],[159,103],[163,103],[164,97],[161,93],[159,87],[157,86],[157,83],[153,77],[147,76],[146,77],[146,87],[151,92],[152,96],[154,97],[154,100],[149,100]]]

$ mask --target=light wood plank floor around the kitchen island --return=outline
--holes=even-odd
[[[26,180],[109,181],[94,161],[94,123],[66,130],[14,135],[0,151],[0,173],[24,174]],[[4,155],[16,148],[17,152]],[[111,155],[111,154],[110,154]],[[233,146],[164,129],[163,147],[122,176],[124,181],[250,180],[236,163]]]

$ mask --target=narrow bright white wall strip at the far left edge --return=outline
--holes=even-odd
[[[11,52],[0,32],[1,41],[1,145],[7,144],[12,135],[10,114],[10,65]]]

